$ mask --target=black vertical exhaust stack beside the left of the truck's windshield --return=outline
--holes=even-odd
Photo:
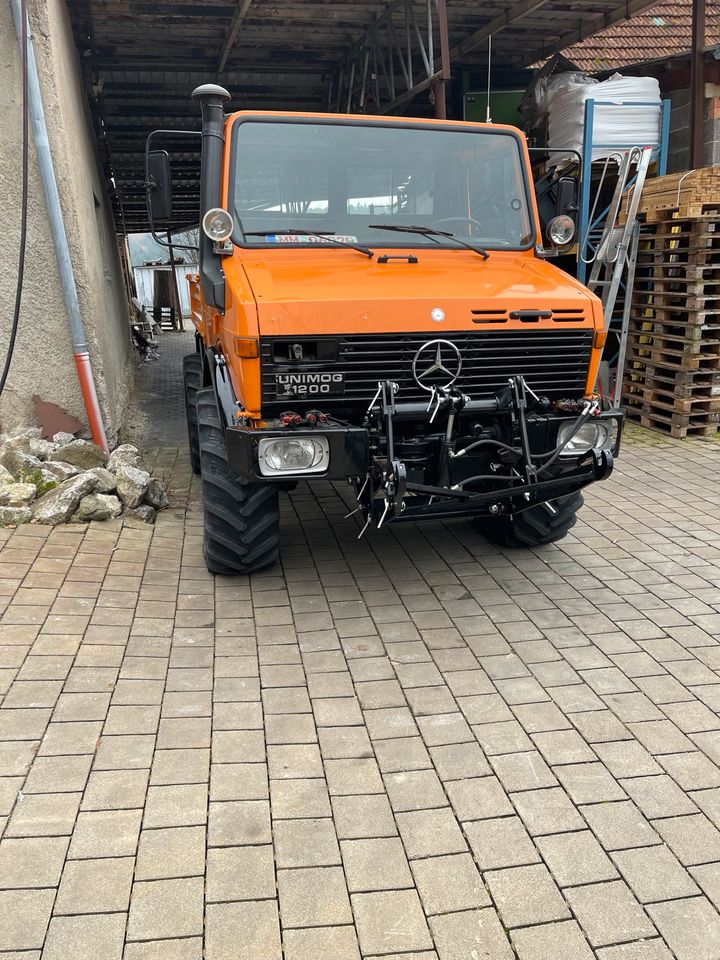
[[[230,99],[225,87],[204,83],[193,90],[193,100],[202,110],[202,153],[200,158],[200,282],[205,302],[225,309],[225,276],[213,242],[205,236],[202,219],[208,210],[220,206],[225,108]]]

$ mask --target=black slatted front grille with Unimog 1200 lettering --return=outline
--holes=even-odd
[[[427,400],[412,377],[412,361],[428,340],[450,340],[459,348],[463,367],[458,386],[473,399],[493,396],[513,374],[522,374],[535,393],[559,399],[585,392],[593,331],[501,330],[440,331],[412,334],[372,334],[331,337],[339,344],[337,363],[278,366],[273,363],[275,337],[261,341],[263,408],[276,402],[275,373],[288,370],[336,370],[345,374],[345,394],[338,402],[369,403],[379,380],[400,384],[399,402]],[[320,339],[314,337],[313,339]],[[317,398],[316,401],[317,402]],[[295,402],[293,401],[293,405]],[[287,406],[287,401],[285,401]]]

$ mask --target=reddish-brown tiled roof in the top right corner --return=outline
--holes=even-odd
[[[706,46],[720,44],[720,2],[707,0]],[[596,33],[563,51],[588,73],[687,54],[691,47],[692,2],[668,0],[631,20]]]

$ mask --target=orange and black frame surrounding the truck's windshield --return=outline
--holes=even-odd
[[[505,243],[496,243],[493,244],[490,240],[483,242],[483,247],[487,250],[492,250],[493,252],[506,252],[506,253],[520,253],[528,250],[533,250],[538,241],[538,217],[537,210],[535,207],[535,193],[530,182],[529,177],[529,161],[527,154],[527,144],[525,138],[523,137],[520,130],[517,130],[515,127],[503,126],[498,124],[497,126],[486,125],[486,124],[476,124],[476,123],[467,123],[463,121],[450,121],[450,122],[430,122],[420,120],[401,120],[397,122],[399,118],[393,118],[396,122],[391,120],[381,120],[375,119],[374,117],[354,117],[351,115],[348,116],[338,116],[337,114],[292,114],[292,113],[235,113],[231,115],[230,124],[229,124],[229,136],[230,136],[230,147],[229,147],[229,161],[228,166],[225,170],[225,175],[227,177],[227,206],[226,209],[231,213],[234,221],[233,232],[231,240],[234,246],[239,247],[242,250],[347,250],[352,249],[347,246],[339,243],[293,243],[293,244],[282,244],[282,243],[260,243],[260,242],[249,242],[248,240],[243,239],[243,234],[240,229],[240,224],[238,223],[238,218],[234,213],[235,209],[235,176],[234,171],[236,170],[237,157],[238,157],[238,131],[242,124],[244,123],[272,123],[272,124],[286,124],[286,123],[299,123],[299,124],[326,124],[328,126],[363,126],[363,127],[395,127],[396,129],[410,128],[414,130],[443,130],[448,133],[474,133],[476,136],[503,136],[503,137],[512,137],[518,147],[518,160],[520,165],[520,174],[522,177],[522,184],[525,190],[525,203],[527,206],[528,220],[530,222],[530,239],[526,244],[512,244],[508,245]],[[278,214],[278,220],[282,219],[282,214]],[[276,224],[273,224],[276,226]],[[282,224],[277,224],[277,226],[282,226]],[[436,237],[437,243],[427,244],[427,243],[417,243],[413,242],[412,234],[400,234],[398,233],[398,239],[390,240],[388,239],[387,233],[385,237],[382,237],[384,231],[377,231],[378,241],[377,243],[367,243],[371,249],[402,249],[402,250],[455,250],[463,252],[464,248],[457,244],[454,240],[448,239],[447,243],[443,242],[442,237]],[[465,238],[463,238],[465,239]],[[467,252],[467,251],[465,251]]]

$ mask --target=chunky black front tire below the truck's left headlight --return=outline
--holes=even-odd
[[[203,553],[211,573],[252,573],[279,556],[280,508],[271,483],[243,483],[228,467],[212,387],[196,400],[205,506]]]

